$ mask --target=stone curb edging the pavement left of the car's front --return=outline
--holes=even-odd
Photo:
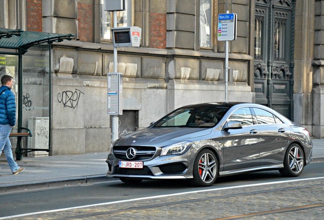
[[[82,177],[72,177],[72,178],[62,178],[62,179],[50,179],[41,181],[30,181],[21,183],[8,183],[0,185],[0,193],[8,193],[9,191],[21,191],[27,189],[40,189],[49,188],[56,186],[68,186],[77,185],[84,183],[95,183],[95,182],[105,182],[111,181],[112,178],[106,177],[106,175],[94,175],[94,176],[82,176]]]

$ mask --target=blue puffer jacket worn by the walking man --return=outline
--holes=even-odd
[[[10,87],[0,87],[0,124],[16,124],[16,99]]]

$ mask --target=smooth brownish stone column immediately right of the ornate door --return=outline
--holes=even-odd
[[[311,131],[314,1],[295,1],[294,32],[294,121]]]

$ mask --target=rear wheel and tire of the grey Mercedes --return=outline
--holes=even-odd
[[[304,170],[304,152],[298,144],[291,144],[284,157],[284,168],[279,170],[283,176],[296,177]]]

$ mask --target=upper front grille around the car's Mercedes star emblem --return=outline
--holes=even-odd
[[[136,156],[132,158],[132,160],[146,160],[152,158],[155,154],[155,147],[146,147],[146,146],[117,146],[114,147],[114,155],[116,158],[121,160],[130,160],[126,156],[126,152],[128,148],[136,149]]]

